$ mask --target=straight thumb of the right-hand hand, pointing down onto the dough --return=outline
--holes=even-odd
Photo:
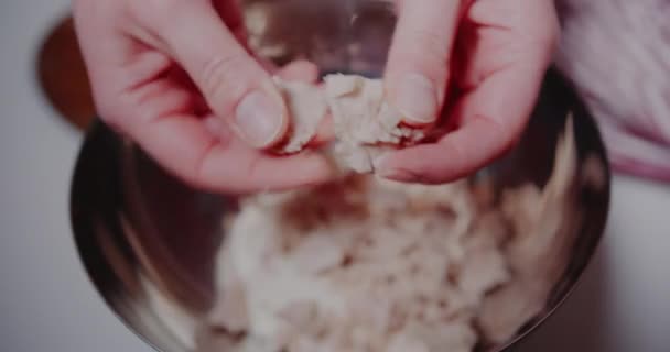
[[[403,1],[387,64],[387,91],[406,122],[433,123],[444,102],[461,0]]]

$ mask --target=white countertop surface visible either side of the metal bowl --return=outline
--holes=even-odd
[[[71,234],[82,136],[34,74],[37,45],[67,6],[0,4],[0,351],[151,352],[98,297]],[[614,180],[605,240],[582,283],[523,351],[668,351],[670,186]]]

